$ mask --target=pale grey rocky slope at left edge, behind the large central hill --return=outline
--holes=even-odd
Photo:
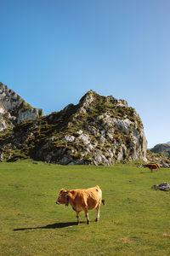
[[[21,121],[37,119],[42,115],[42,109],[31,107],[14,90],[0,83],[0,131]]]

